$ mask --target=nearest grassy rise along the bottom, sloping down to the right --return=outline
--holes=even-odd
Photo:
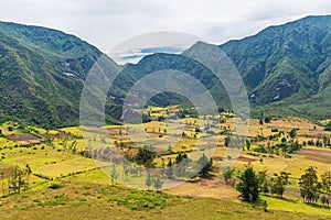
[[[328,219],[253,208],[238,200],[170,196],[111,186],[100,170],[47,182],[0,200],[1,219]]]

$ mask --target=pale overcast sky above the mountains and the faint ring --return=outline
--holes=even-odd
[[[221,44],[329,13],[330,0],[0,0],[0,20],[57,29],[102,51],[154,31],[186,32]]]

